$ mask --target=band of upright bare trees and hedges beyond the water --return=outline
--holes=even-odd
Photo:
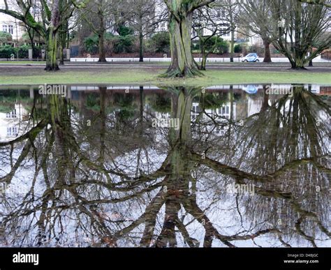
[[[80,39],[86,52],[105,62],[109,53],[169,53],[172,59],[164,77],[202,75],[212,52],[228,51],[230,61],[242,47],[235,32],[263,40],[265,62],[273,45],[290,61],[304,68],[331,45],[330,1],[323,0],[4,0],[5,13],[20,20],[31,45],[36,35],[46,48],[45,70],[59,70],[63,49]],[[161,27],[164,26],[164,27]],[[164,29],[162,29],[164,28]],[[161,30],[160,30],[161,29]],[[161,31],[161,32],[160,32]],[[230,35],[226,49],[222,36]],[[5,39],[4,34],[0,35]],[[198,45],[193,40],[198,40]],[[223,47],[223,49],[222,49]],[[202,63],[192,50],[198,48]]]

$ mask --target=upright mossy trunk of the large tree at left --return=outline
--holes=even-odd
[[[50,28],[48,31],[48,37],[46,39],[46,68],[47,71],[59,70],[59,64],[57,63],[57,31]]]

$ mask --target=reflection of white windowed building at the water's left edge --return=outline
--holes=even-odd
[[[22,104],[15,104],[11,112],[0,112],[0,141],[13,140],[24,128],[22,123],[29,117],[29,112]]]

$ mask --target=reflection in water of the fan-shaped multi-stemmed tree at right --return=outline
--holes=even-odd
[[[287,238],[299,233],[313,246],[318,229],[325,232],[324,226],[329,224],[329,213],[325,211],[330,196],[329,115],[330,109],[320,97],[294,87],[293,97],[284,96],[271,107],[263,105],[259,114],[245,121],[238,134],[242,142],[240,156],[233,160],[244,170],[272,175],[260,183],[264,196],[254,197],[258,202],[252,199],[246,205],[253,210],[248,210],[247,217],[279,223],[289,234]],[[270,189],[279,192],[268,194]],[[265,207],[256,211],[254,206],[258,204]],[[300,227],[302,223],[307,224]]]

